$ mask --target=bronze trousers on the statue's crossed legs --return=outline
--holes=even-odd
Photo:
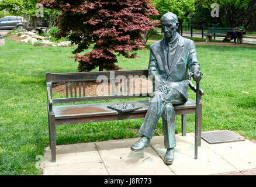
[[[164,146],[165,148],[175,147],[175,111],[173,105],[180,105],[185,102],[184,96],[174,88],[171,88],[167,95],[164,92],[155,91],[150,98],[150,105],[141,124],[139,134],[151,139],[161,116]]]

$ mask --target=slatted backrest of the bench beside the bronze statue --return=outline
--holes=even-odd
[[[127,99],[149,97],[153,88],[148,78],[148,70],[102,71],[102,72],[47,72],[47,86],[62,82],[65,85],[65,98],[53,99],[53,103],[95,101],[108,99]],[[85,90],[89,81],[96,81],[97,95],[89,95]],[[137,81],[137,82],[136,82]],[[135,86],[133,85],[136,82]],[[137,85],[140,85],[139,87]],[[141,86],[142,85],[142,86]],[[100,87],[99,87],[100,86]],[[106,87],[104,87],[106,86]],[[141,89],[141,87],[143,87]],[[146,88],[146,89],[145,89]],[[148,89],[149,88],[149,89]],[[102,90],[106,92],[102,92]]]

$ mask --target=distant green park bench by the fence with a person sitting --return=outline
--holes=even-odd
[[[216,27],[209,27],[206,34],[203,34],[206,36],[206,42],[212,41],[212,37],[231,37],[233,34],[234,29],[233,28],[216,28]],[[243,37],[237,37],[236,43],[243,43]]]

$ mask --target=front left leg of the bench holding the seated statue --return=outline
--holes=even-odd
[[[51,162],[56,162],[56,124],[55,116],[49,116],[50,121],[50,145],[51,145]]]

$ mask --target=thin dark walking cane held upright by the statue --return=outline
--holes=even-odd
[[[195,75],[194,72],[189,72],[188,79],[190,80],[193,75]],[[198,159],[198,109],[199,109],[199,82],[200,79],[196,80],[196,117],[195,117],[195,159]]]

